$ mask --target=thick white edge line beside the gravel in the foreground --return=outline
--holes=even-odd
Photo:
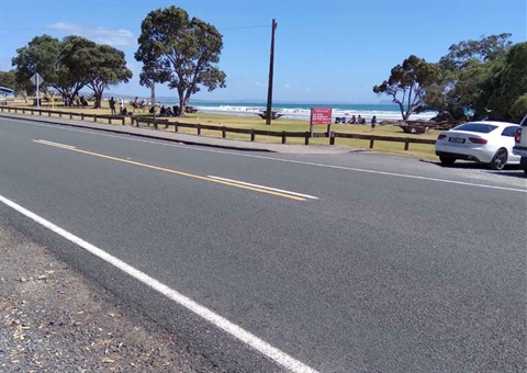
[[[74,234],[56,226],[55,224],[46,221],[45,218],[32,213],[31,211],[20,206],[19,204],[5,199],[4,196],[0,195],[0,202],[4,203],[5,205],[10,206],[11,208],[18,211],[19,213],[27,216],[29,218],[35,221],[36,223],[43,225],[44,227],[48,228],[49,230],[60,235],[61,237],[66,238],[67,240],[80,246],[85,250],[91,252],[96,257],[101,258],[102,260],[106,261],[108,263],[114,265],[115,268],[120,269],[121,271],[125,272],[126,274],[131,275],[132,278],[141,281],[145,285],[152,287],[153,290],[157,291],[158,293],[167,296],[171,301],[178,303],[179,305],[190,309],[194,314],[201,316],[209,323],[213,324],[214,326],[223,329],[231,336],[239,339],[240,341],[247,343],[255,350],[259,351],[264,355],[272,359],[278,364],[284,366],[285,369],[292,372],[302,372],[302,373],[315,373],[316,371],[304,363],[293,359],[285,352],[272,347],[268,342],[264,341],[262,339],[256,337],[255,335],[250,334],[249,331],[243,329],[242,327],[231,323],[226,318],[215,314],[214,312],[210,310],[209,308],[200,305],[199,303],[192,301],[188,296],[177,292],[173,289],[168,287],[167,285],[160,283],[159,281],[150,278],[148,274],[135,269],[134,267],[125,263],[124,261],[111,256],[110,253],[99,249],[98,247],[85,241],[83,239],[75,236]]]

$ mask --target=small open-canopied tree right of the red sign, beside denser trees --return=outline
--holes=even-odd
[[[407,120],[412,113],[418,111],[426,98],[427,89],[431,89],[438,80],[439,68],[435,64],[414,55],[392,68],[388,80],[380,86],[373,87],[377,94],[392,97],[394,103],[399,104],[403,120]]]

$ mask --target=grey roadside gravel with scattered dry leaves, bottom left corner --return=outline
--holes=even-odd
[[[220,372],[0,222],[0,372]]]

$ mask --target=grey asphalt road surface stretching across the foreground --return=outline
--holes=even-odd
[[[369,151],[244,154],[0,120],[0,195],[321,372],[525,371],[526,180]],[[221,368],[283,370],[0,214]]]

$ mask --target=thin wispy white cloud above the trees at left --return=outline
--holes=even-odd
[[[52,30],[64,31],[67,35],[78,35],[98,44],[111,46],[128,46],[136,43],[136,37],[130,30],[112,30],[106,27],[86,27],[75,23],[57,22],[47,26]]]

